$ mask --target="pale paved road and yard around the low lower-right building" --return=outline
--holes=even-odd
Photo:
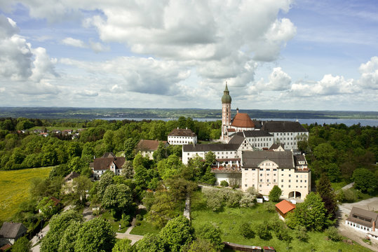
[[[349,186],[349,185],[347,185]],[[344,190],[344,189],[343,189]],[[363,238],[365,238],[364,232],[359,232],[358,230],[355,230],[348,225],[345,225],[345,220],[348,218],[349,214],[351,213],[352,207],[359,207],[361,209],[366,209],[369,211],[377,211],[378,210],[378,197],[372,197],[367,200],[362,200],[360,202],[355,203],[344,203],[339,205],[339,211],[338,211],[338,230],[340,234],[342,234],[344,237],[348,237],[349,239],[356,241],[358,244],[365,246],[366,248],[371,249],[372,251],[378,252],[378,241],[371,239],[372,245],[366,244],[363,241]]]

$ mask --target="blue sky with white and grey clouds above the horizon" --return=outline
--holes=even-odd
[[[0,106],[378,111],[376,0],[0,1]]]

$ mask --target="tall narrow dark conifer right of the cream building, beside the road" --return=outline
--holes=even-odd
[[[337,212],[337,201],[335,192],[332,190],[330,180],[327,175],[321,174],[318,183],[316,184],[316,190],[319,193],[324,207],[327,209],[328,218],[335,219]]]

